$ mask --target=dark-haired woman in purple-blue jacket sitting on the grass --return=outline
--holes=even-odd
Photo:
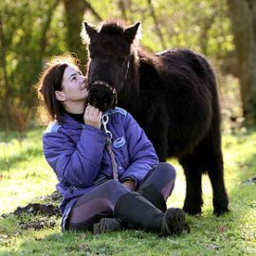
[[[53,120],[44,154],[63,195],[63,229],[101,233],[127,225],[162,235],[187,229],[182,210],[166,210],[174,167],[158,162],[152,143],[125,110],[101,113],[86,106],[88,89],[70,58],[49,64],[39,82]]]

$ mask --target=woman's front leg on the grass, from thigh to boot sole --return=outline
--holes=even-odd
[[[97,215],[106,210],[113,210],[121,221],[136,229],[156,231],[163,235],[178,234],[185,225],[182,210],[169,209],[163,213],[140,193],[129,192],[119,182],[111,180],[78,200],[70,213],[69,229],[92,230],[100,224],[96,223],[100,219],[98,217],[97,220]]]

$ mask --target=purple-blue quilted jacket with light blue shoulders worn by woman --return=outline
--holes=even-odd
[[[153,145],[125,110],[116,107],[104,114],[109,117],[107,129],[113,136],[111,148],[116,155],[119,181],[130,177],[138,185],[158,163]],[[79,197],[113,178],[106,134],[64,114],[62,124],[55,121],[48,125],[43,142],[46,160],[59,180],[57,190],[63,195],[64,229]]]

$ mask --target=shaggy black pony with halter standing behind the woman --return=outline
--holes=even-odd
[[[84,23],[89,65],[89,102],[102,111],[117,104],[128,110],[155,146],[160,161],[178,158],[187,181],[183,210],[201,212],[202,174],[210,176],[213,212],[227,212],[221,151],[220,107],[208,61],[189,49],[158,54],[138,47],[137,23]]]

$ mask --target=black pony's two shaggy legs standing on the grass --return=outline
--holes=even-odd
[[[203,173],[209,174],[210,177],[214,214],[221,215],[229,211],[229,198],[224,183],[220,144],[220,136],[215,133],[214,137],[205,137],[194,149],[192,155],[180,160],[187,180],[184,210],[188,213],[201,212],[203,204],[201,178]]]

